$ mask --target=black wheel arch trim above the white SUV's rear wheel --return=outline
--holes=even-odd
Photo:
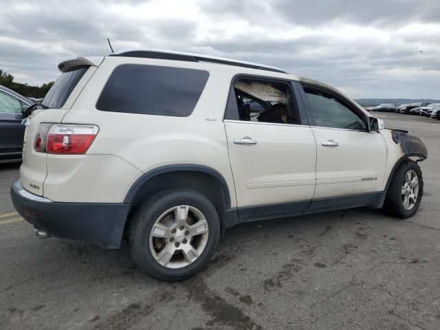
[[[166,165],[166,166],[160,166],[158,168],[154,168],[153,170],[149,170],[148,172],[144,173],[141,177],[139,177],[135,181],[135,183],[131,186],[129,192],[127,192],[125,196],[124,203],[131,203],[131,201],[133,201],[133,197],[135,197],[136,195],[137,190],[139,190],[148,180],[153,179],[153,177],[156,177],[157,175],[161,175],[164,173],[181,172],[181,171],[200,172],[200,173],[212,175],[215,179],[219,181],[221,190],[223,190],[222,191],[223,197],[225,198],[225,203],[226,203],[225,208],[227,210],[230,209],[231,198],[230,198],[229,188],[223,175],[221,175],[219,171],[214,170],[214,168],[210,168],[204,165],[197,165],[197,164]]]

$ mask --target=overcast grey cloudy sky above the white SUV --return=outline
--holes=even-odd
[[[353,98],[440,98],[439,0],[0,0],[0,69],[21,83],[113,48],[282,67]]]

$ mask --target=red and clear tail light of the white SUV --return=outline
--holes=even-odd
[[[98,126],[74,124],[40,124],[34,149],[41,153],[82,155],[98,134]]]

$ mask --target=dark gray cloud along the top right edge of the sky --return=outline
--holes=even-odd
[[[393,26],[410,21],[438,22],[440,13],[440,2],[435,0],[207,0],[201,5],[217,15],[246,15],[254,22],[275,18],[305,26],[331,21]]]

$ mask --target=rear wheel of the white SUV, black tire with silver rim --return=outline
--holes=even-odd
[[[220,220],[208,198],[171,188],[148,198],[133,214],[129,245],[142,272],[181,281],[205,267],[219,243]]]

